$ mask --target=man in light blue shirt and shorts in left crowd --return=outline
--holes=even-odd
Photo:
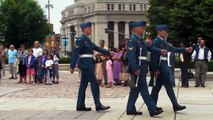
[[[8,51],[8,63],[11,77],[9,79],[17,79],[17,73],[15,71],[15,65],[17,58],[17,50],[15,50],[14,45],[10,45],[10,49]]]

